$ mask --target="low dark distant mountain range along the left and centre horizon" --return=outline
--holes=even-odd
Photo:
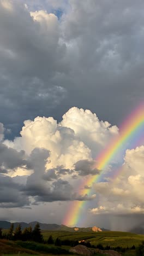
[[[96,227],[89,227],[89,228],[76,228],[76,227],[74,227],[74,228],[69,228],[68,226],[65,226],[65,225],[46,224],[46,223],[40,223],[40,222],[30,222],[30,223],[15,222],[14,223],[14,228],[16,228],[16,226],[19,225],[19,224],[21,224],[22,229],[28,228],[28,226],[30,226],[30,225],[32,226],[32,228],[34,228],[36,223],[39,223],[41,230],[62,230],[62,231],[71,231],[71,232],[79,232],[79,231],[88,232],[88,231],[93,231],[93,230],[95,230],[94,228],[96,228]],[[10,222],[0,220],[0,228],[9,229],[10,225],[11,225]],[[101,231],[107,231],[107,229],[102,228]]]

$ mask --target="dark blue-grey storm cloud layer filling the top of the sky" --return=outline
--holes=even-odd
[[[23,120],[37,115],[61,119],[71,106],[116,123],[123,109],[142,100],[143,1],[69,0],[71,9],[61,21],[49,20],[49,26],[33,20],[31,7],[11,3],[12,10],[0,3],[0,118],[5,127],[17,132]]]

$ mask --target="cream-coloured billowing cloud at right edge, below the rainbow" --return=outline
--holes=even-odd
[[[144,147],[127,150],[124,164],[114,181],[100,182],[94,185],[94,190],[99,194],[100,208],[92,208],[93,214],[141,214],[143,208],[143,154]]]

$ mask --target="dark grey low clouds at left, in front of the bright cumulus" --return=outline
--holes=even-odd
[[[31,155],[25,160],[25,152],[17,152],[0,143],[0,207],[14,208],[29,205],[29,196],[33,197],[33,203],[92,200],[93,196],[79,195],[75,193],[73,186],[65,179],[65,175],[73,175],[75,171],[59,166],[55,169],[46,170],[49,150],[35,148]],[[87,163],[86,163],[87,164]],[[31,168],[30,176],[5,176],[9,169],[25,166]],[[7,170],[8,169],[8,170]]]

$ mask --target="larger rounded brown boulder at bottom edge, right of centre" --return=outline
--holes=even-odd
[[[77,245],[69,250],[71,253],[77,253],[79,255],[93,256],[94,251],[86,246]]]

